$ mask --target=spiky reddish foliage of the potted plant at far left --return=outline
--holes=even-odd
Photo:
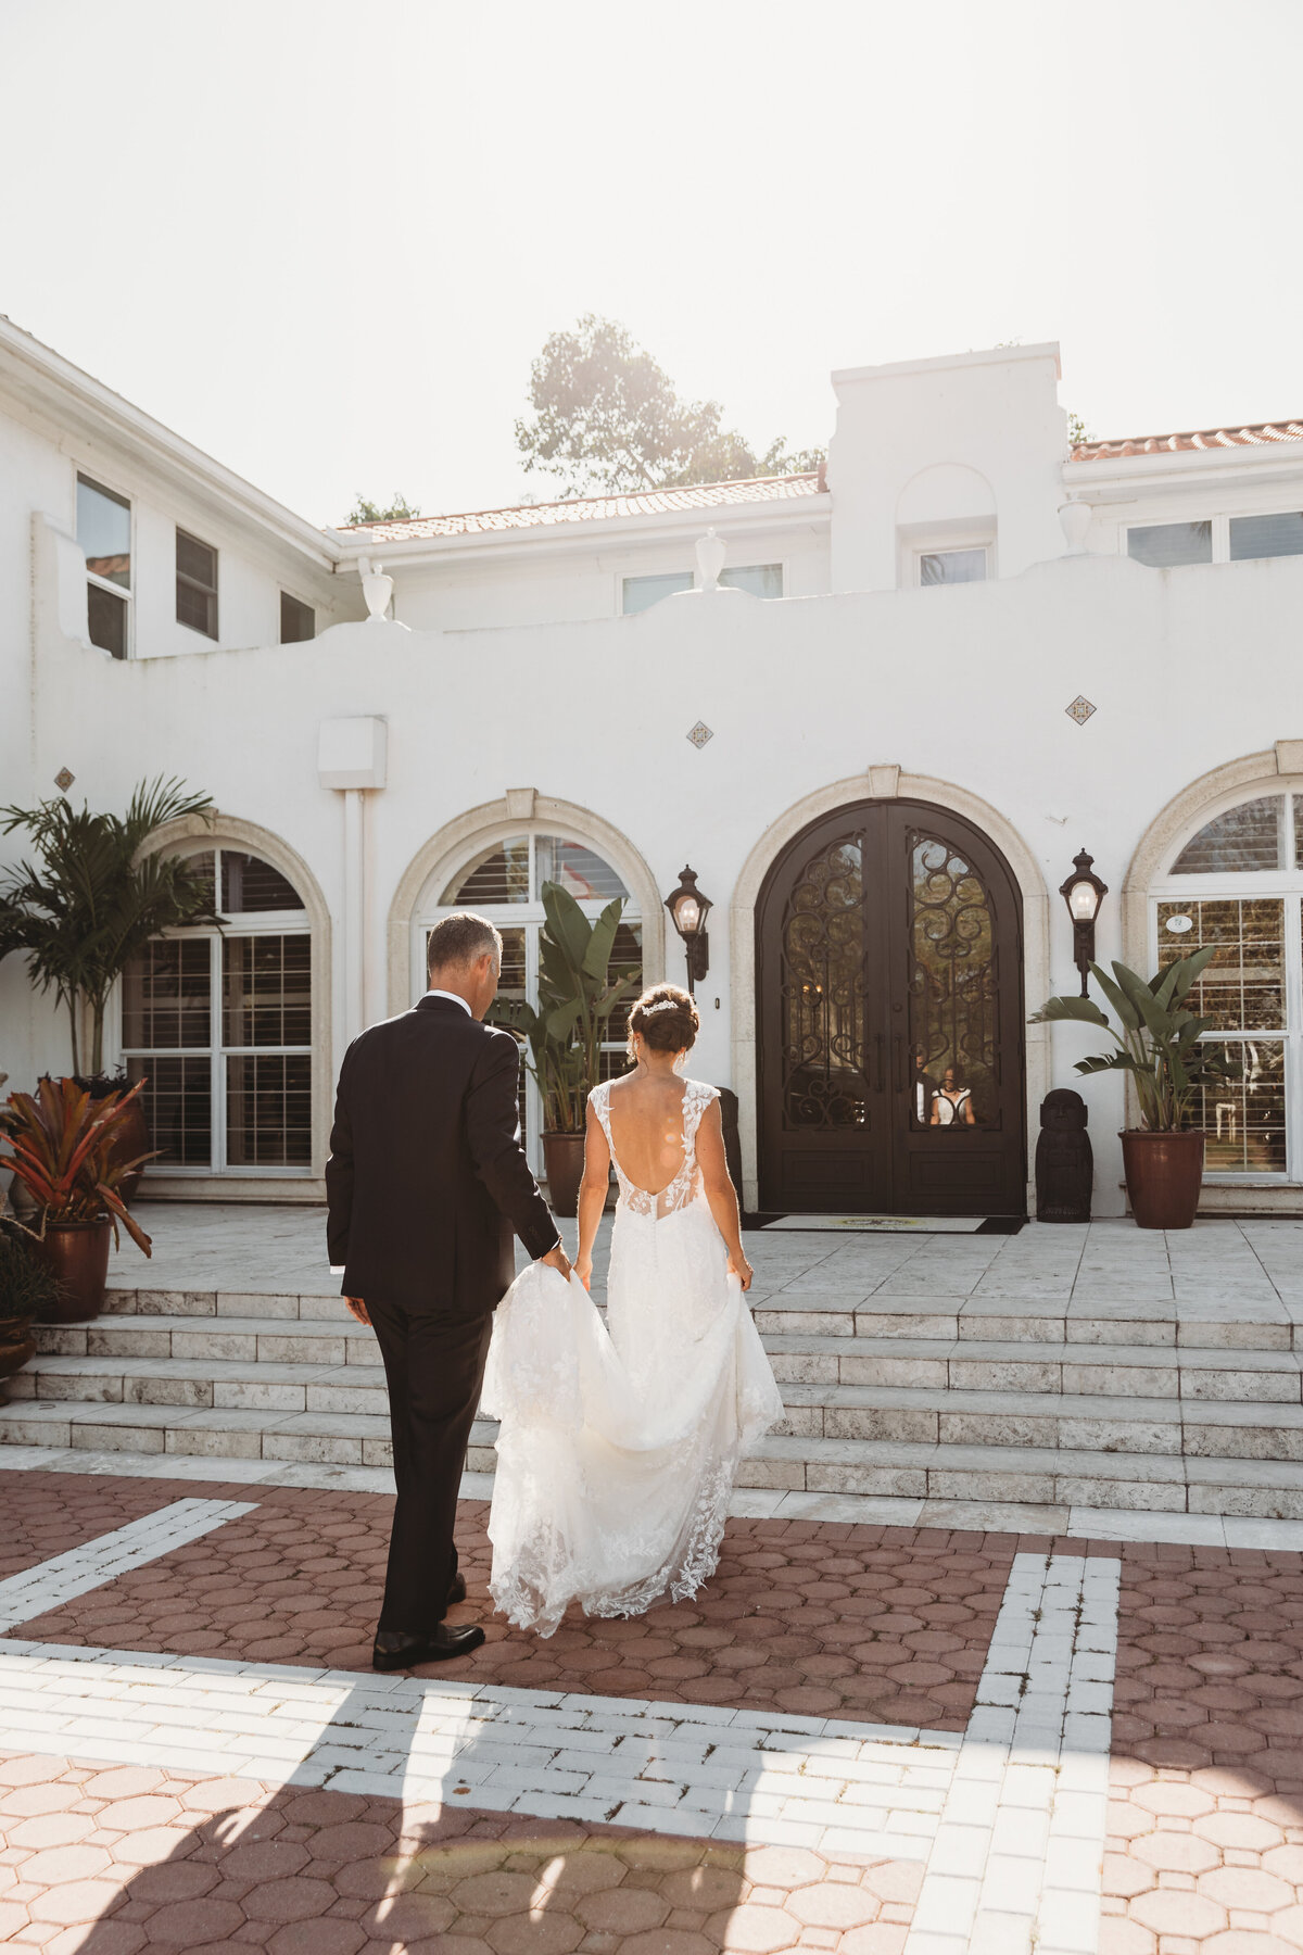
[[[125,1108],[143,1091],[141,1079],[129,1093],[92,1101],[76,1079],[41,1079],[35,1095],[10,1093],[0,1107],[0,1144],[8,1148],[0,1165],[14,1169],[37,1204],[39,1230],[27,1234],[45,1238],[47,1228],[59,1222],[107,1220],[117,1241],[121,1222],[133,1243],[150,1253],[150,1239],[127,1212],[119,1187],[133,1167],[154,1155],[113,1159]]]

